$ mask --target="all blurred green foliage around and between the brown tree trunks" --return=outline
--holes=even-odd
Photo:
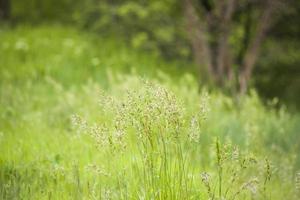
[[[209,10],[217,1],[194,2]],[[251,39],[254,32],[253,28],[250,28],[249,33],[246,33],[243,24],[249,20],[255,27],[253,23],[259,19],[259,6],[255,5],[261,2],[255,2],[254,6],[247,2],[238,2],[238,12],[234,15],[234,23],[230,27],[231,53],[233,57],[238,57],[238,62],[241,61],[242,53],[249,43],[243,39],[245,34],[249,34]],[[268,99],[280,97],[295,107],[299,107],[300,102],[297,95],[299,9],[298,1],[282,1],[274,18],[276,23],[270,23],[272,26],[268,31],[269,44],[259,57],[252,84],[261,96]],[[75,25],[96,32],[98,37],[117,36],[133,48],[161,55],[168,60],[191,61],[192,58],[182,1],[11,0],[11,10],[11,24],[52,22]],[[218,32],[216,29],[208,36],[213,45],[217,42],[215,35],[218,35]],[[238,64],[232,66],[235,73],[238,71]]]

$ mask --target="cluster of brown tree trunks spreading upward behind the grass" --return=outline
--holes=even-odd
[[[240,94],[245,94],[257,61],[261,44],[269,28],[273,11],[281,0],[262,0],[256,3],[247,2],[245,21],[245,38],[237,56],[233,55],[229,46],[232,16],[238,9],[236,0],[220,0],[210,5],[209,1],[201,1],[202,10],[196,10],[193,0],[183,0],[184,15],[187,20],[187,31],[190,37],[194,59],[198,66],[199,77],[224,87],[232,84],[239,88]],[[199,1],[198,1],[199,3]],[[256,30],[252,34],[252,6],[263,6]],[[199,17],[201,15],[201,19]],[[211,36],[212,40],[207,38]],[[234,57],[235,56],[235,57]],[[234,76],[232,64],[240,66],[237,77]],[[209,78],[208,78],[209,77]],[[236,87],[238,86],[238,87]],[[226,86],[225,86],[226,87]]]

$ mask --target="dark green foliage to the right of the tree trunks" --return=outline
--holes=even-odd
[[[281,97],[300,108],[300,1],[288,1],[268,32],[254,71],[254,85],[262,96]]]

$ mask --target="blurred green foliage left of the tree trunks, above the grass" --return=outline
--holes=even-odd
[[[16,23],[71,23],[101,36],[118,35],[133,47],[170,58],[189,54],[181,4],[174,0],[14,0],[12,19]]]

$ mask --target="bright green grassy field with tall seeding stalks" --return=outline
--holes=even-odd
[[[0,30],[0,199],[299,199],[300,117],[59,26]]]

